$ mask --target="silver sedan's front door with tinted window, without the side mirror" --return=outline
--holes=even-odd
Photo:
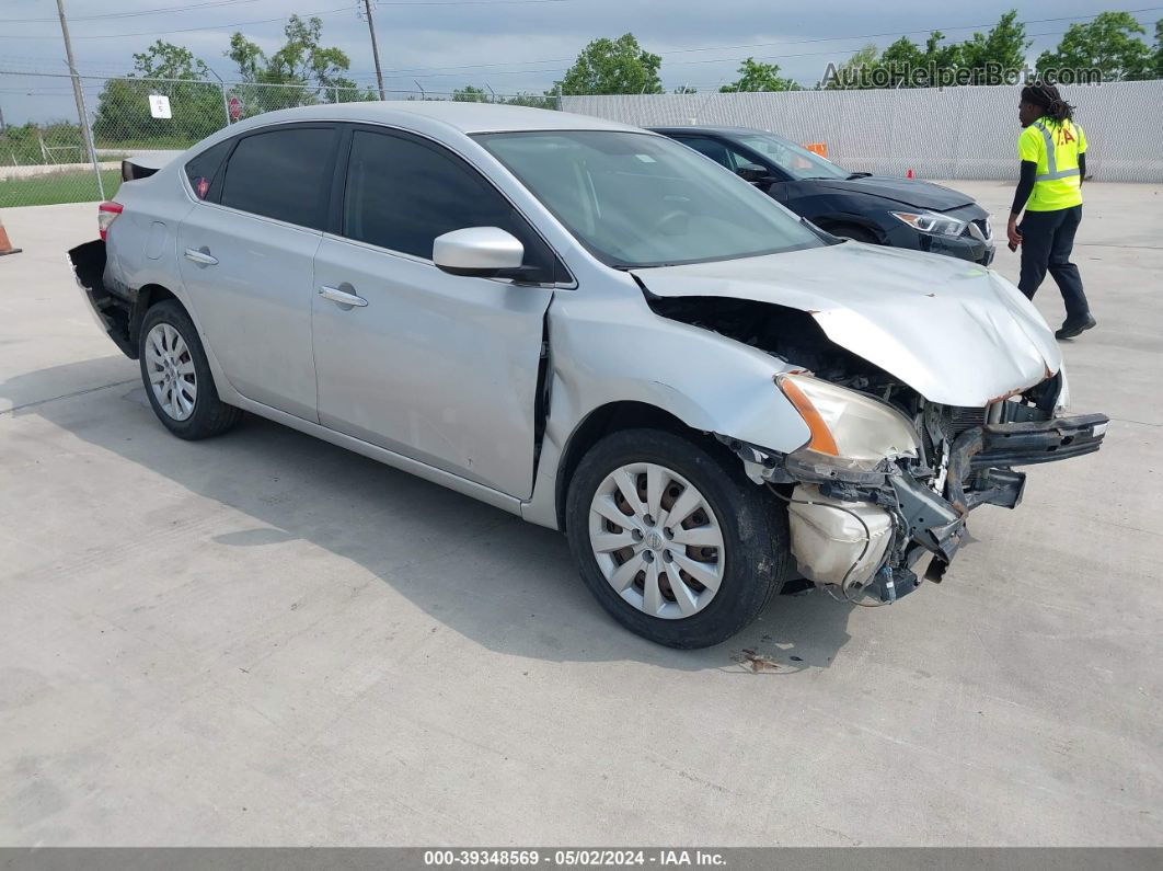
[[[323,426],[528,498],[534,407],[556,259],[477,170],[401,133],[350,134],[341,224],[315,255]],[[451,276],[433,241],[500,227],[537,284]]]

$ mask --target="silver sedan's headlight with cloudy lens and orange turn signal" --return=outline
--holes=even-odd
[[[871,471],[884,459],[920,456],[916,429],[896,408],[811,376],[779,376],[776,384],[812,434],[799,450],[815,459]]]

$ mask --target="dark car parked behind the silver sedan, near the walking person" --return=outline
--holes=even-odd
[[[793,142],[744,127],[655,127],[836,236],[989,266],[989,213],[930,181],[849,172]]]

